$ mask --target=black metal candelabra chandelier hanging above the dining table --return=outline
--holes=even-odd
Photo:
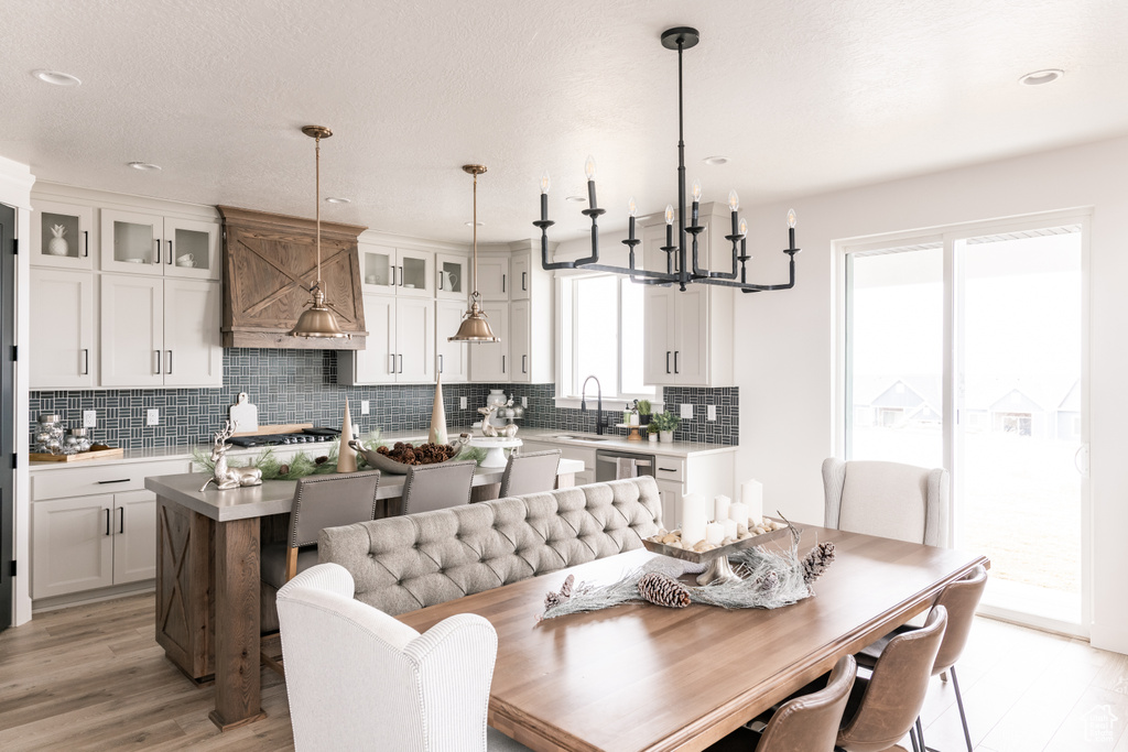
[[[732,271],[711,272],[698,266],[697,259],[697,236],[705,228],[697,223],[700,200],[700,184],[695,182],[693,186],[693,204],[690,209],[689,224],[686,224],[686,142],[682,123],[682,95],[681,95],[681,53],[697,45],[700,35],[697,29],[688,26],[678,26],[662,33],[662,46],[667,50],[678,51],[678,244],[673,244],[673,206],[666,207],[666,272],[637,268],[635,266],[635,246],[641,240],[635,237],[635,213],[634,198],[629,204],[629,223],[627,239],[623,244],[629,251],[629,266],[611,266],[599,263],[599,216],[606,210],[596,205],[596,165],[589,157],[585,165],[588,175],[588,209],[583,210],[585,216],[591,218],[591,255],[574,262],[549,262],[548,260],[548,228],[555,224],[548,219],[548,175],[540,179],[540,219],[532,224],[540,229],[540,266],[545,269],[590,269],[593,272],[613,272],[615,274],[628,274],[631,280],[638,284],[653,284],[668,287],[678,285],[685,291],[687,284],[700,283],[713,284],[725,287],[737,287],[741,292],[766,292],[769,290],[790,290],[795,286],[795,254],[800,251],[795,247],[795,211],[787,212],[787,248],[783,253],[787,254],[791,280],[786,284],[754,284],[748,282],[746,263],[751,256],[748,255],[748,223],[740,219],[738,213],[740,200],[737,192],[729,193],[729,209],[732,213],[732,235],[724,236],[725,240],[732,242]],[[687,244],[686,236],[690,236]],[[678,264],[675,266],[673,255],[678,255]],[[687,262],[691,262],[687,263]],[[675,271],[677,268],[677,271]]]

